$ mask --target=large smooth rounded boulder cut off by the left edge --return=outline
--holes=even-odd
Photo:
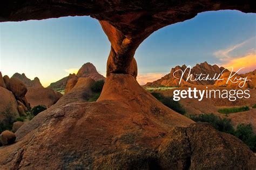
[[[4,87],[0,87],[0,126],[10,125],[19,117],[17,101],[14,94]]]

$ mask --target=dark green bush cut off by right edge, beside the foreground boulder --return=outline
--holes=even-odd
[[[234,135],[250,147],[253,152],[256,152],[256,135],[253,133],[251,124],[239,124]]]

